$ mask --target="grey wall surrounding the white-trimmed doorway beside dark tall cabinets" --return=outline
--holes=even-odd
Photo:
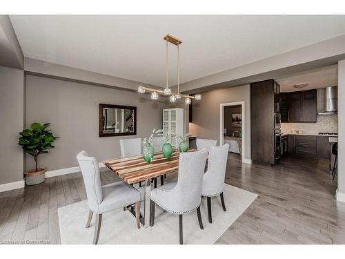
[[[193,103],[193,123],[189,130],[197,137],[217,140],[219,144],[220,104],[245,102],[246,146],[244,157],[250,159],[250,85],[210,90],[202,99]]]

